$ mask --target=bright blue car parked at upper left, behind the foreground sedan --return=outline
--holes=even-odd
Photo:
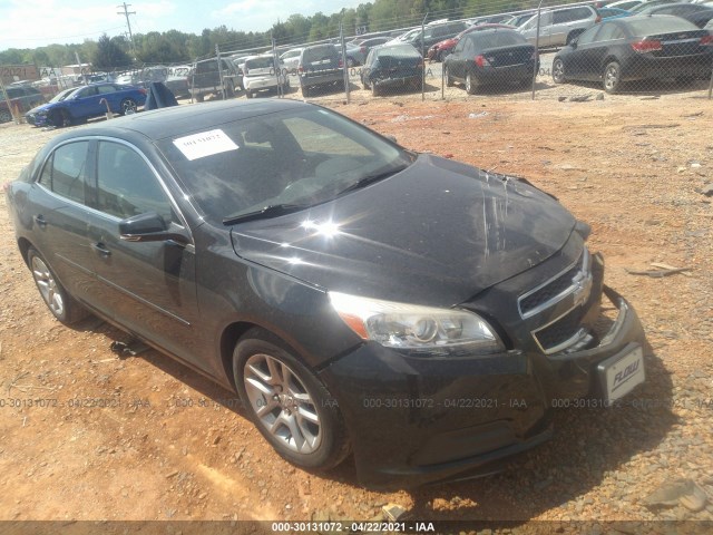
[[[62,91],[49,103],[30,109],[25,118],[35,126],[70,126],[107,111],[126,115],[146,101],[146,89],[119,84],[91,84]],[[108,108],[108,109],[107,109]]]

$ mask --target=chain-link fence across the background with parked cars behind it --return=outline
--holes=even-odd
[[[602,3],[602,2],[599,2]],[[653,3],[653,2],[652,2]],[[494,0],[468,19],[403,19],[400,29],[223,46],[189,64],[140,65],[109,72],[55,72],[49,99],[92,81],[164,82],[179,99],[277,96],[335,101],[392,98],[564,99],[600,94],[713,90],[713,8],[642,4],[632,11],[592,2],[506,11]],[[639,12],[636,12],[638,9]],[[393,21],[391,21],[393,22]],[[365,28],[360,28],[365,30]],[[85,71],[87,70],[87,71]],[[6,95],[7,97],[7,91]],[[4,100],[10,101],[10,98]],[[8,114],[6,114],[8,115]],[[8,117],[4,117],[6,119]]]

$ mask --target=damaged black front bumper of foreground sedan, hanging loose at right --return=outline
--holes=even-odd
[[[340,392],[360,481],[404,488],[499,471],[504,459],[551,436],[559,400],[612,397],[606,376],[621,371],[621,381],[626,370],[612,373],[615,361],[641,357],[643,373],[638,317],[618,293],[604,293],[618,313],[589,349],[424,359],[370,342],[324,369]]]

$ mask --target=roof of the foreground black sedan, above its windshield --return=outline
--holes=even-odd
[[[85,126],[72,130],[71,134],[75,135],[68,137],[135,137],[138,134],[150,140],[157,140],[219,128],[222,124],[248,117],[310,106],[313,105],[289,98],[219,100],[172,106]]]

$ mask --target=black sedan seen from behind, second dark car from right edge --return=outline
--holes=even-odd
[[[466,33],[446,58],[446,85],[462,81],[475,95],[480,86],[533,81],[537,52],[519,32],[492,29]]]

